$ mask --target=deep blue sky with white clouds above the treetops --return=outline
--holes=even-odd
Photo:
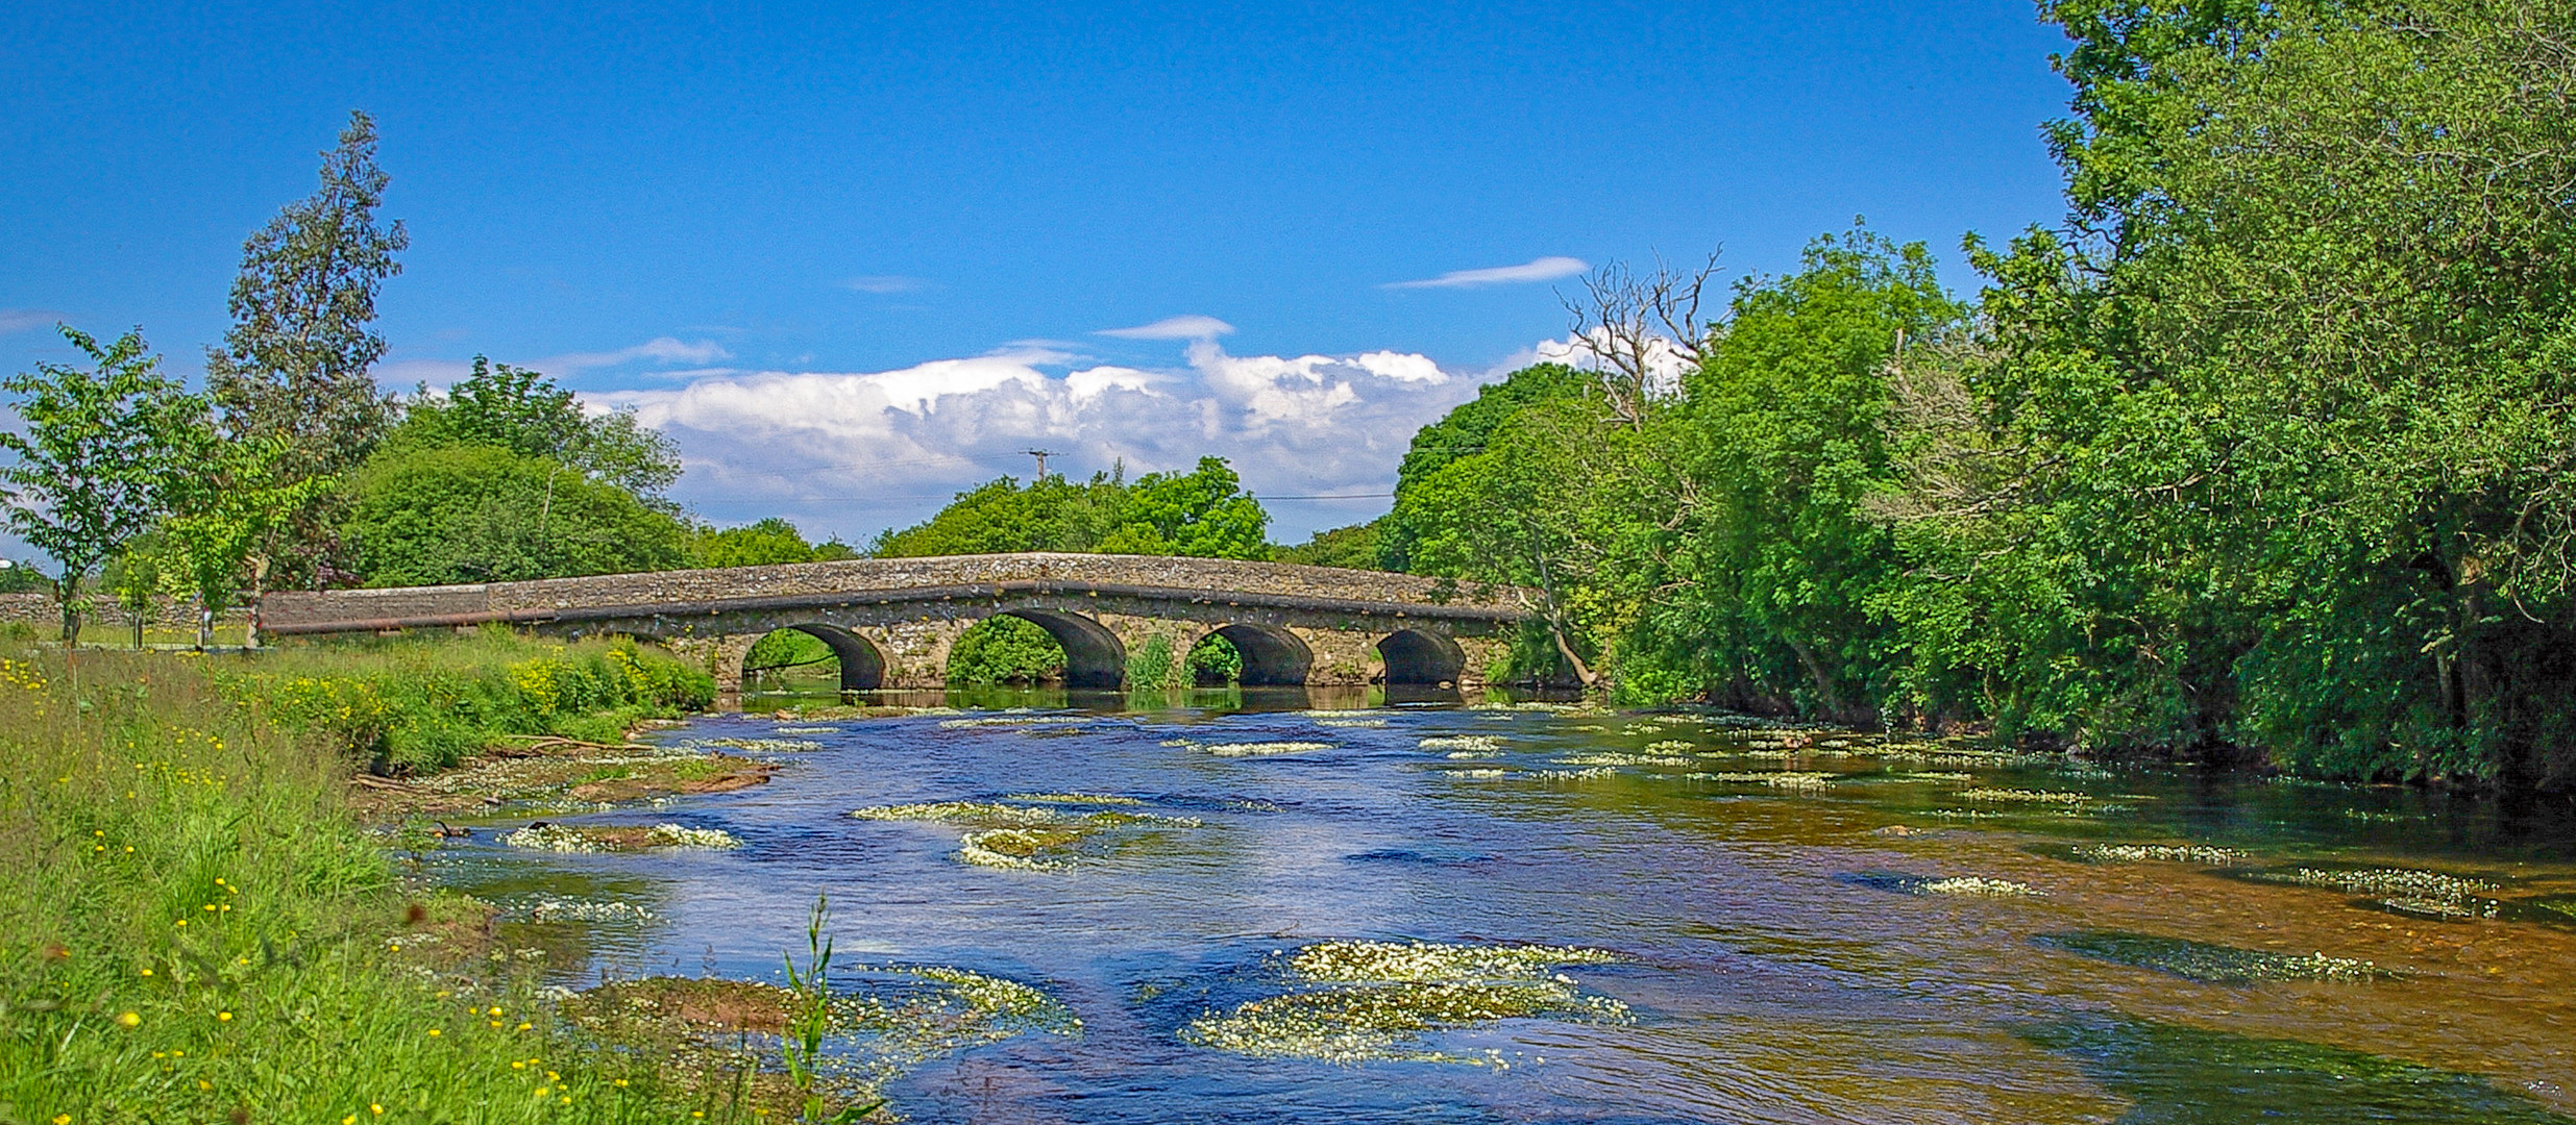
[[[193,376],[366,108],[412,232],[379,378],[541,366],[665,425],[711,520],[863,538],[1033,443],[1386,492],[1577,263],[1783,270],[1865,214],[1973,288],[1963,232],[2061,211],[2058,46],[2027,0],[8,5],[0,368],[67,319]]]

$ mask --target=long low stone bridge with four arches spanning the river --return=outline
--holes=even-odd
[[[1234,559],[981,553],[276,592],[260,608],[260,631],[510,623],[554,636],[634,636],[703,659],[724,690],[737,690],[752,641],[796,628],[832,646],[842,690],[876,690],[943,687],[948,646],[976,620],[1012,615],[1064,646],[1069,687],[1126,687],[1131,667],[1170,669],[1175,682],[1208,633],[1244,654],[1244,685],[1479,687],[1525,618],[1517,595]]]

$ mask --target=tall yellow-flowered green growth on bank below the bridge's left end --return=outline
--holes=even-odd
[[[317,641],[209,662],[206,677],[265,721],[394,775],[446,770],[505,736],[621,741],[639,721],[716,700],[714,677],[659,649],[546,644],[505,628]]]

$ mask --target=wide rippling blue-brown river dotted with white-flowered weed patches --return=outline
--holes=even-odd
[[[907,1058],[884,1092],[920,1122],[2576,1115],[2566,808],[1716,713],[1216,700],[714,716],[665,739],[786,770],[546,819],[742,847],[477,832],[433,870],[567,986],[778,981],[827,893],[845,963],[1079,1019]]]

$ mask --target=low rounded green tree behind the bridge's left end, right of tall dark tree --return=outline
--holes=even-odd
[[[629,574],[688,564],[688,528],[631,492],[495,445],[368,461],[343,523],[374,587]]]

